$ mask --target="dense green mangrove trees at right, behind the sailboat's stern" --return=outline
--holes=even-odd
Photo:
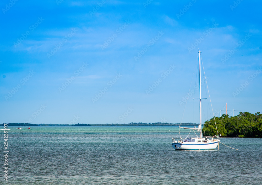
[[[222,137],[262,138],[262,114],[240,112],[237,116],[229,117],[223,114],[215,117],[218,133]],[[216,135],[214,118],[205,121],[202,129],[203,136]]]

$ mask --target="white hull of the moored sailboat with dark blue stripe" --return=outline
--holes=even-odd
[[[176,150],[215,150],[220,140],[210,141],[208,143],[197,142],[173,142],[172,147]]]

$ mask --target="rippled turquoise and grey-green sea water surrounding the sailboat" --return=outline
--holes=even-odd
[[[4,184],[262,184],[261,138],[221,139],[239,150],[176,151],[175,126],[22,128],[8,131]]]

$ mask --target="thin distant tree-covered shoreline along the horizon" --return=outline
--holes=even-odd
[[[31,124],[31,123],[8,123],[8,126],[179,126],[180,123],[129,123],[129,124]],[[194,123],[181,123],[181,126],[198,126]],[[4,124],[1,124],[4,126]]]

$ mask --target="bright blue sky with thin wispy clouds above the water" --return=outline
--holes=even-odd
[[[214,111],[227,102],[230,116],[262,112],[260,1],[0,7],[2,123],[179,123],[198,48]],[[197,96],[188,97],[182,122],[198,123]],[[203,121],[211,118],[204,101]]]

